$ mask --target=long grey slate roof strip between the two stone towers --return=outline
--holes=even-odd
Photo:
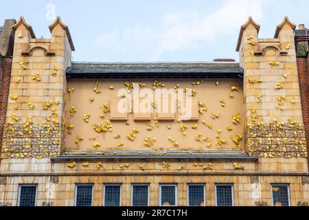
[[[73,62],[67,70],[67,78],[238,78],[242,75],[239,63],[222,62]]]

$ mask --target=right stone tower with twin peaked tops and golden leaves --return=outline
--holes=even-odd
[[[260,157],[307,157],[295,55],[296,25],[288,17],[273,39],[260,25],[242,25],[236,51],[244,69],[246,149]]]

